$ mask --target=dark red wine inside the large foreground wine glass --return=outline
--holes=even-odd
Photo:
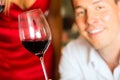
[[[50,41],[43,40],[43,41],[22,41],[24,47],[29,50],[30,52],[34,53],[37,56],[43,56],[44,51],[48,47]]]

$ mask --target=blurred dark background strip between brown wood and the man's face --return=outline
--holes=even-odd
[[[71,0],[62,0],[61,14],[63,17],[62,46],[65,46],[69,41],[77,38],[79,35],[78,28],[74,24]]]

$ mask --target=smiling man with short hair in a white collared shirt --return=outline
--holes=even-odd
[[[120,1],[72,4],[81,36],[63,49],[61,80],[120,80]]]

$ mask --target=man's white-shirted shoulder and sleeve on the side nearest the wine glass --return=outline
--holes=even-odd
[[[90,50],[90,44],[82,37],[69,42],[62,50],[59,65],[61,78],[83,80],[82,72],[87,69]]]

